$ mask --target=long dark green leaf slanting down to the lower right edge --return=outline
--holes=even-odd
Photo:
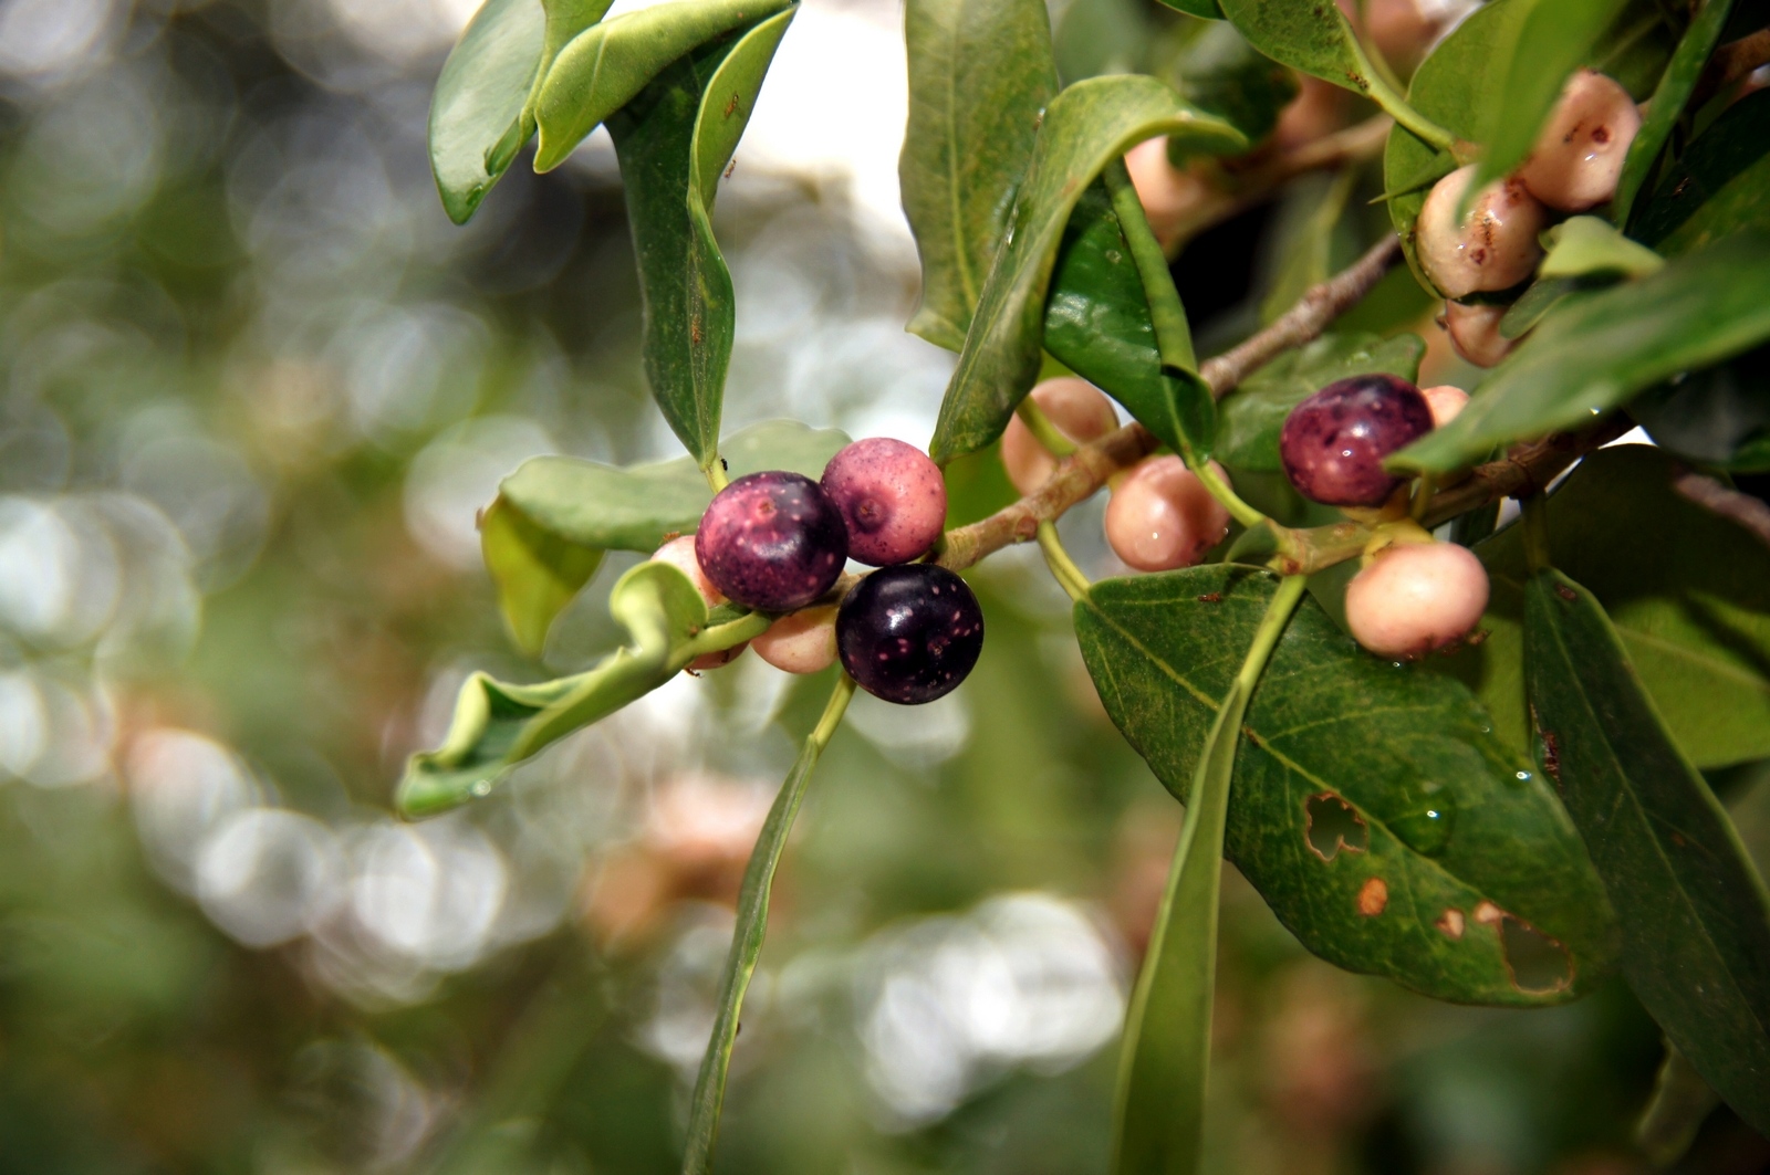
[[[1703,1079],[1770,1131],[1763,879],[1597,598],[1554,570],[1524,595],[1540,757],[1621,915],[1623,975]]]

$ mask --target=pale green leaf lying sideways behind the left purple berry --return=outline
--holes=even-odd
[[[807,478],[823,467],[848,437],[835,428],[766,421],[724,442],[727,474],[742,478],[788,469]],[[701,526],[713,492],[692,460],[655,465],[604,465],[579,457],[536,457],[497,487],[529,522],[561,541],[595,550],[657,550],[671,534]]]

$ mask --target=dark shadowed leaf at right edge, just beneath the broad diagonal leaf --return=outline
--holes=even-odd
[[[1628,414],[1680,457],[1735,472],[1770,471],[1770,347],[1657,388]]]

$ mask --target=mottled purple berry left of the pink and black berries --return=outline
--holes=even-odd
[[[694,534],[694,556],[727,598],[759,612],[791,612],[843,573],[848,527],[811,478],[752,472],[713,497]]]

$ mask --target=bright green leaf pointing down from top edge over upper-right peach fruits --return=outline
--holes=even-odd
[[[1480,92],[1474,113],[1487,150],[1471,191],[1506,175],[1531,154],[1568,76],[1593,58],[1598,39],[1627,0],[1503,0],[1513,9],[1512,41],[1496,62],[1497,87]]]

